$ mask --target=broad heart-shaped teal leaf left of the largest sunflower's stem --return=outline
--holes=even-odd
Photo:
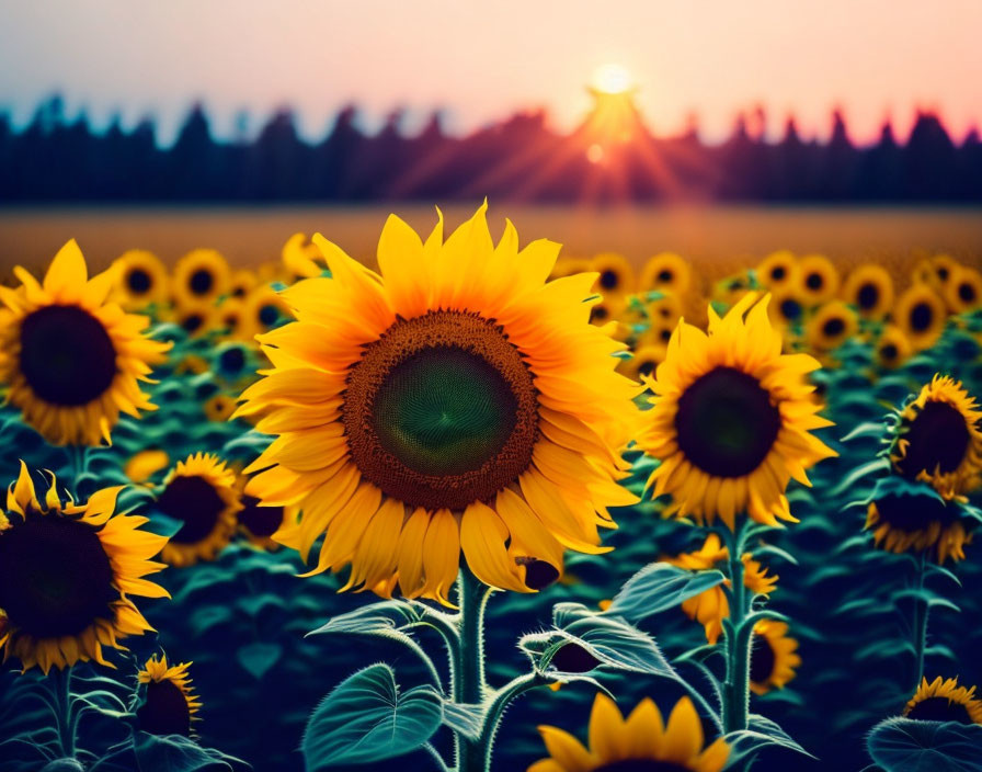
[[[402,694],[388,665],[342,681],[315,708],[301,750],[308,772],[368,764],[422,747],[439,728],[443,704],[430,686]]]

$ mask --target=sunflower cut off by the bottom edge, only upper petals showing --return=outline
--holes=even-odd
[[[717,738],[704,747],[703,724],[688,697],[672,708],[669,724],[658,706],[644,699],[625,719],[617,705],[597,694],[590,713],[590,748],[555,726],[540,726],[549,758],[528,772],[719,772],[730,747]]]

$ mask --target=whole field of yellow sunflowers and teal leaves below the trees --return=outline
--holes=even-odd
[[[978,260],[486,209],[14,269],[0,772],[982,771]]]

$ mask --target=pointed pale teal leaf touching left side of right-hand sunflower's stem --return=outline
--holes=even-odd
[[[687,571],[667,563],[652,563],[627,580],[605,613],[637,622],[675,609],[683,601],[721,584],[720,571]]]

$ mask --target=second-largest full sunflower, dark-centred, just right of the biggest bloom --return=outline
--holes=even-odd
[[[720,516],[730,527],[739,512],[769,525],[793,521],[790,478],[810,485],[806,468],[835,455],[809,433],[831,425],[806,378],[819,363],[781,354],[768,300],[750,293],[722,319],[710,307],[708,334],[681,322],[649,382],[654,397],[638,445],[661,461],[648,486],[672,495],[666,515]]]

